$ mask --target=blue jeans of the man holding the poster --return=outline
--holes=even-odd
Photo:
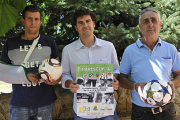
[[[81,118],[81,117],[77,116],[77,114],[74,112],[74,120],[92,120],[92,119]],[[99,119],[97,118],[97,119],[93,119],[93,120],[118,120],[118,117],[117,117],[116,111],[114,111],[114,115],[109,115],[106,117],[102,117]]]

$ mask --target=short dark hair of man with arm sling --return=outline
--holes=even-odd
[[[35,5],[28,5],[24,8],[23,12],[22,12],[22,16],[23,18],[25,19],[25,14],[26,12],[39,12],[40,13],[40,19],[41,19],[41,16],[42,16],[42,13],[41,13],[41,9]]]

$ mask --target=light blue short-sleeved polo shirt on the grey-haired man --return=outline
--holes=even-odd
[[[158,38],[154,49],[150,51],[141,39],[125,49],[120,73],[130,74],[131,80],[136,83],[152,79],[170,81],[171,73],[180,70],[180,58],[175,46]],[[144,103],[134,90],[131,90],[131,101],[142,107],[154,107]]]

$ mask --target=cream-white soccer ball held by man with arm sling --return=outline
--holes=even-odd
[[[49,58],[42,61],[39,66],[39,75],[45,80],[57,80],[62,75],[63,68],[56,59]]]

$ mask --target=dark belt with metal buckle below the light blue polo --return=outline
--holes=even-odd
[[[167,109],[174,106],[172,102],[168,103],[168,104],[166,104],[164,106],[153,107],[153,108],[151,108],[151,107],[141,107],[141,106],[138,106],[138,105],[136,105],[134,103],[133,103],[133,105],[135,107],[138,107],[139,109],[143,110],[144,112],[152,112],[153,114],[161,113],[162,111],[167,110]]]

